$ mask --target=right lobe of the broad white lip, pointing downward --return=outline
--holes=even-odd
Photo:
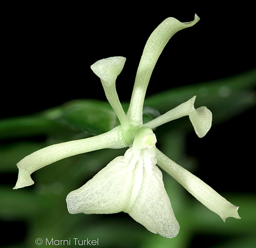
[[[180,226],[164,188],[162,172],[155,165],[152,166],[152,172],[152,175],[147,173],[144,166],[139,194],[134,205],[125,212],[148,231],[174,238],[178,235]]]

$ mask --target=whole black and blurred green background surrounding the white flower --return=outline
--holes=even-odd
[[[238,18],[233,10],[202,8],[181,13],[162,9],[154,15],[155,8],[132,15],[121,10],[101,14],[74,5],[31,8],[10,8],[6,25],[0,246],[35,247],[36,238],[47,237],[99,238],[100,247],[252,247],[256,243],[252,172],[256,66],[250,15],[240,12]],[[188,119],[182,118],[157,128],[157,145],[239,205],[241,220],[228,218],[223,223],[164,172],[166,191],[181,225],[174,239],[148,232],[124,213],[69,214],[67,194],[124,150],[70,157],[33,173],[34,186],[12,190],[16,163],[24,156],[118,125],[91,64],[110,56],[127,58],[117,80],[127,109],[148,36],[168,16],[190,21],[195,13],[199,23],[177,33],[160,56],[148,86],[144,121],[197,95],[196,107],[207,106],[214,117],[206,137],[197,138]]]

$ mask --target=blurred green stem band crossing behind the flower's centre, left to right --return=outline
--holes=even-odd
[[[220,80],[170,89],[146,98],[143,121],[146,123],[159,116],[158,110],[161,113],[168,111],[195,95],[196,105],[206,105],[214,113],[214,121],[224,121],[256,104],[255,85],[256,70],[251,70]],[[122,105],[126,112],[129,104]],[[108,102],[75,100],[38,115],[1,120],[0,139],[65,132],[65,125],[98,135],[119,124]]]

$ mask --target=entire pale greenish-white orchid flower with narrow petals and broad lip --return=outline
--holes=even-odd
[[[152,71],[166,43],[179,30],[194,26],[199,21],[180,22],[165,19],[151,34],[144,48],[132,93],[125,114],[116,92],[116,79],[123,69],[124,57],[110,57],[95,62],[91,69],[100,78],[106,98],[113,107],[120,124],[98,136],[48,146],[17,163],[18,180],[14,189],[34,184],[31,173],[76,154],[104,148],[129,147],[123,156],[116,157],[81,188],[67,196],[71,214],[129,213],[137,222],[153,233],[173,238],[179,233],[179,223],[165,191],[162,172],[173,176],[223,221],[227,217],[240,218],[238,208],[182,168],[157,149],[153,129],[169,121],[188,116],[199,138],[211,127],[212,114],[205,106],[196,108],[196,96],[164,115],[143,124],[142,108]]]

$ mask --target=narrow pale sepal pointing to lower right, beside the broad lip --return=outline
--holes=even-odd
[[[227,217],[240,219],[238,214],[239,207],[232,205],[201,179],[170,160],[161,151],[157,150],[156,156],[157,165],[174,177],[190,194],[202,202],[205,207],[218,214],[224,222]]]

